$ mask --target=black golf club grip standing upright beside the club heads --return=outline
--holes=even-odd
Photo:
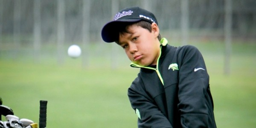
[[[39,128],[46,128],[47,101],[40,100]]]

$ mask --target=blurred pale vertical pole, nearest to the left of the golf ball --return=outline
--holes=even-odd
[[[65,1],[58,0],[57,3],[57,50],[58,50],[58,64],[64,61],[64,37],[65,37]]]

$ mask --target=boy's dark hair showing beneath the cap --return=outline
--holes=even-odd
[[[130,33],[129,31],[128,31],[128,26],[131,26],[131,25],[136,25],[136,26],[140,26],[140,27],[142,27],[142,28],[144,28],[144,29],[148,29],[148,31],[149,32],[151,32],[152,31],[152,27],[151,27],[151,23],[149,23],[149,22],[147,22],[147,21],[144,21],[144,20],[140,20],[140,21],[138,21],[138,22],[128,22],[128,23],[122,23],[122,25],[120,24],[118,27],[119,27],[119,29],[118,29],[118,32],[119,32],[119,35],[121,34],[124,34],[124,33]],[[158,40],[160,41],[161,40],[161,35],[159,34],[158,36],[157,36],[157,38],[158,38]],[[119,37],[118,37],[118,40],[117,41],[115,41],[117,44],[119,44]]]

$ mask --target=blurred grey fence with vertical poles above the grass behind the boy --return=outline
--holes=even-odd
[[[90,58],[101,56],[116,67],[115,60],[123,58],[116,53],[122,49],[111,45],[106,50],[100,32],[118,10],[128,6],[153,12],[161,35],[171,42],[225,42],[226,69],[234,39],[255,42],[255,0],[0,0],[0,58],[26,55],[41,62],[51,55],[63,64],[67,47],[78,44],[84,66]]]

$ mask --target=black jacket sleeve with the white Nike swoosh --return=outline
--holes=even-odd
[[[181,125],[183,128],[208,128],[209,103],[208,88],[209,76],[204,59],[197,48],[183,47],[179,54],[179,91],[178,109],[180,111]]]

